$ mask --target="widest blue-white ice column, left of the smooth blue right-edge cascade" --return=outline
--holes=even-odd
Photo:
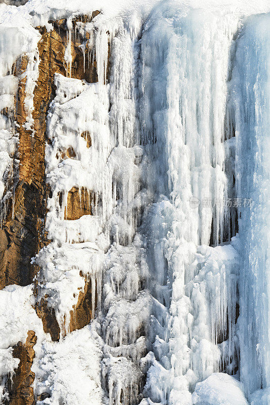
[[[154,343],[160,363],[154,361],[148,374],[155,402],[191,403],[188,391],[219,368],[216,343],[218,336],[225,339],[227,310],[235,322],[237,254],[232,247],[227,252],[197,246],[209,245],[211,233],[213,244],[223,239],[224,117],[236,29],[233,12],[179,10],[163,3],[142,36],[142,143],[159,145],[149,151],[158,167],[146,169],[146,181],[171,201],[162,198],[152,223],[154,230],[159,227],[156,235],[165,234],[158,242],[167,262],[164,282],[171,288],[165,331]],[[151,272],[157,280],[157,262]],[[167,305],[166,297],[157,298]],[[216,311],[215,302],[220,302]],[[158,323],[160,328],[161,317]]]

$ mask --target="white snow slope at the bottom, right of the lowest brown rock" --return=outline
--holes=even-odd
[[[44,397],[37,404],[104,403],[101,346],[100,337],[89,327],[70,333],[60,342],[44,341],[38,367],[33,368],[36,372],[36,394]]]

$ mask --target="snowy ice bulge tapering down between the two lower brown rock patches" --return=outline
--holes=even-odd
[[[55,310],[62,334],[69,331],[70,311],[74,311],[76,318],[74,308],[79,293],[84,291],[84,286],[90,279],[92,286],[97,285],[100,307],[101,260],[102,255],[98,254],[97,246],[91,242],[84,242],[80,246],[63,244],[61,248],[51,243],[43,248],[35,259],[35,263],[42,268],[42,272],[37,276],[37,300],[47,296],[49,306]],[[95,289],[93,290],[92,301],[95,307]]]

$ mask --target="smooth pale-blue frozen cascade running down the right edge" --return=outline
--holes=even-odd
[[[237,44],[233,72],[236,110],[237,195],[245,198],[239,220],[241,378],[250,394],[270,384],[269,340],[269,15],[249,19]],[[245,156],[243,159],[242,156]],[[252,200],[250,207],[249,200]],[[255,403],[269,403],[256,395]],[[253,403],[253,402],[252,402]]]

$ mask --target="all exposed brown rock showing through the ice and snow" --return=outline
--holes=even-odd
[[[97,14],[99,14],[98,11],[94,12],[91,18]],[[73,19],[72,24],[75,26],[77,21],[88,22],[91,21],[91,18],[80,16]],[[79,48],[82,42],[79,35],[71,39],[71,67],[65,66],[64,56],[68,42],[66,20],[51,21],[51,23],[53,30],[50,32],[47,32],[45,27],[37,27],[41,39],[38,42],[38,78],[33,90],[34,109],[31,129],[27,125],[29,114],[25,110],[25,98],[27,97],[27,74],[25,72],[29,63],[27,57],[22,56],[17,60],[13,69],[14,75],[19,79],[16,114],[13,119],[17,121],[19,133],[17,157],[20,163],[19,170],[13,177],[15,194],[13,199],[9,200],[6,219],[0,230],[0,289],[11,284],[20,286],[32,284],[39,269],[38,266],[31,264],[31,258],[42,247],[50,243],[44,230],[47,197],[50,194],[50,189],[46,185],[44,157],[46,143],[49,142],[46,136],[46,118],[56,89],[54,75],[61,73],[73,78],[84,79],[88,83],[98,80],[96,61],[91,60],[89,64],[84,63],[84,56]],[[91,147],[91,135],[85,132],[81,136],[85,140],[87,148]],[[72,147],[62,151],[62,159],[68,157],[76,157]],[[83,215],[92,215],[91,201],[91,191],[72,187],[68,193],[65,219],[75,220]],[[83,328],[92,319],[93,287],[90,279],[85,281],[84,291],[80,292],[77,305],[71,314],[70,331]],[[46,298],[45,296],[36,303],[35,310],[42,319],[44,332],[50,333],[53,341],[58,341],[60,328],[55,311],[48,307]],[[18,342],[14,347],[13,355],[20,359],[20,363],[12,382],[11,380],[8,382],[10,401],[7,403],[11,405],[33,405],[35,403],[32,388],[34,373],[31,371],[35,343],[36,336],[33,331],[29,331],[26,343]]]

